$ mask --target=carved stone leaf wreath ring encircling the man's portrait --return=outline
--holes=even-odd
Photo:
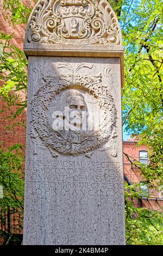
[[[69,63],[58,63],[58,69],[66,68],[70,72],[60,76],[41,75],[41,87],[34,94],[30,111],[32,113],[32,138],[39,135],[43,145],[48,147],[53,156],[86,154],[101,148],[106,142],[114,143],[116,138],[116,107],[107,87],[103,86],[102,74],[87,76],[79,74],[82,68],[92,68],[91,64],[82,63],[73,70]],[[38,69],[37,72],[40,72]],[[103,112],[99,129],[80,143],[68,142],[52,129],[48,121],[48,109],[52,100],[65,89],[82,89],[95,97],[99,109]],[[40,115],[41,113],[41,115]],[[109,115],[107,114],[109,113]]]

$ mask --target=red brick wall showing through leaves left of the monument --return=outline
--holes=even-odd
[[[17,25],[12,26],[8,20],[5,19],[5,13],[2,7],[2,1],[0,2],[0,29],[3,33],[12,34],[14,33],[14,38],[11,39],[11,43],[17,46],[18,48],[23,49],[24,42],[24,34],[26,25]],[[14,92],[13,92],[14,93]],[[23,94],[22,94],[23,96]],[[20,115],[20,117],[16,118],[14,122],[11,122],[8,117],[11,114],[16,112],[16,106],[12,106],[8,109],[7,104],[0,97],[0,111],[4,109],[5,112],[0,114],[0,141],[2,142],[3,148],[7,148],[16,143],[21,143],[22,145],[26,144],[26,130],[23,126],[18,125],[12,128],[10,131],[6,128],[7,126],[11,126],[12,124],[26,120],[26,114]]]

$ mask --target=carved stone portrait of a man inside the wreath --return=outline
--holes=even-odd
[[[49,114],[50,117],[51,115]],[[67,142],[81,143],[90,136],[87,124],[89,112],[79,90],[67,89],[62,92],[52,117],[53,130],[58,131]]]

